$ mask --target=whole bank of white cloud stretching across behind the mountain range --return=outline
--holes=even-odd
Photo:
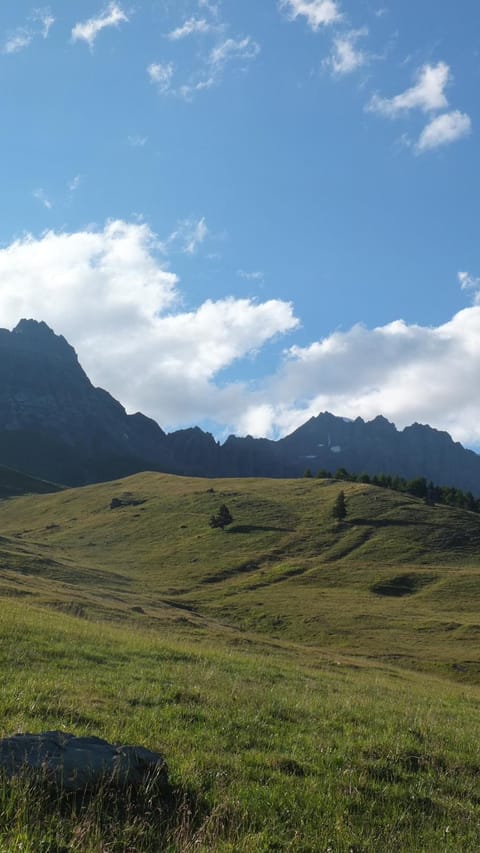
[[[459,274],[465,287],[478,280]],[[286,433],[311,415],[382,413],[480,442],[480,306],[437,327],[354,326],[292,346],[278,370],[247,382],[222,371],[298,326],[290,304],[233,297],[179,308],[177,276],[146,224],[49,231],[0,249],[0,325],[44,319],[76,347],[95,384],[164,427],[204,419],[252,434]]]

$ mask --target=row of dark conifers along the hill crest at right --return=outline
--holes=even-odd
[[[304,476],[313,476],[309,468],[306,469]],[[480,513],[480,498],[475,498],[472,492],[464,492],[454,486],[437,486],[431,480],[428,481],[426,477],[415,477],[413,480],[407,480],[405,477],[392,476],[391,474],[352,474],[345,468],[338,468],[334,474],[322,468],[317,477],[320,479],[345,480],[348,483],[366,483],[379,486],[382,489],[404,492],[404,494],[412,495],[415,498],[422,498],[426,504],[431,506],[444,504],[445,506]]]

